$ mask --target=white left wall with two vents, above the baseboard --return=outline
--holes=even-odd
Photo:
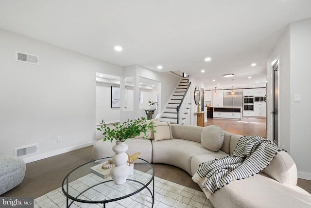
[[[0,154],[38,143],[29,162],[92,144],[95,73],[121,76],[121,67],[4,30],[0,45]],[[15,51],[39,65],[15,61]]]

